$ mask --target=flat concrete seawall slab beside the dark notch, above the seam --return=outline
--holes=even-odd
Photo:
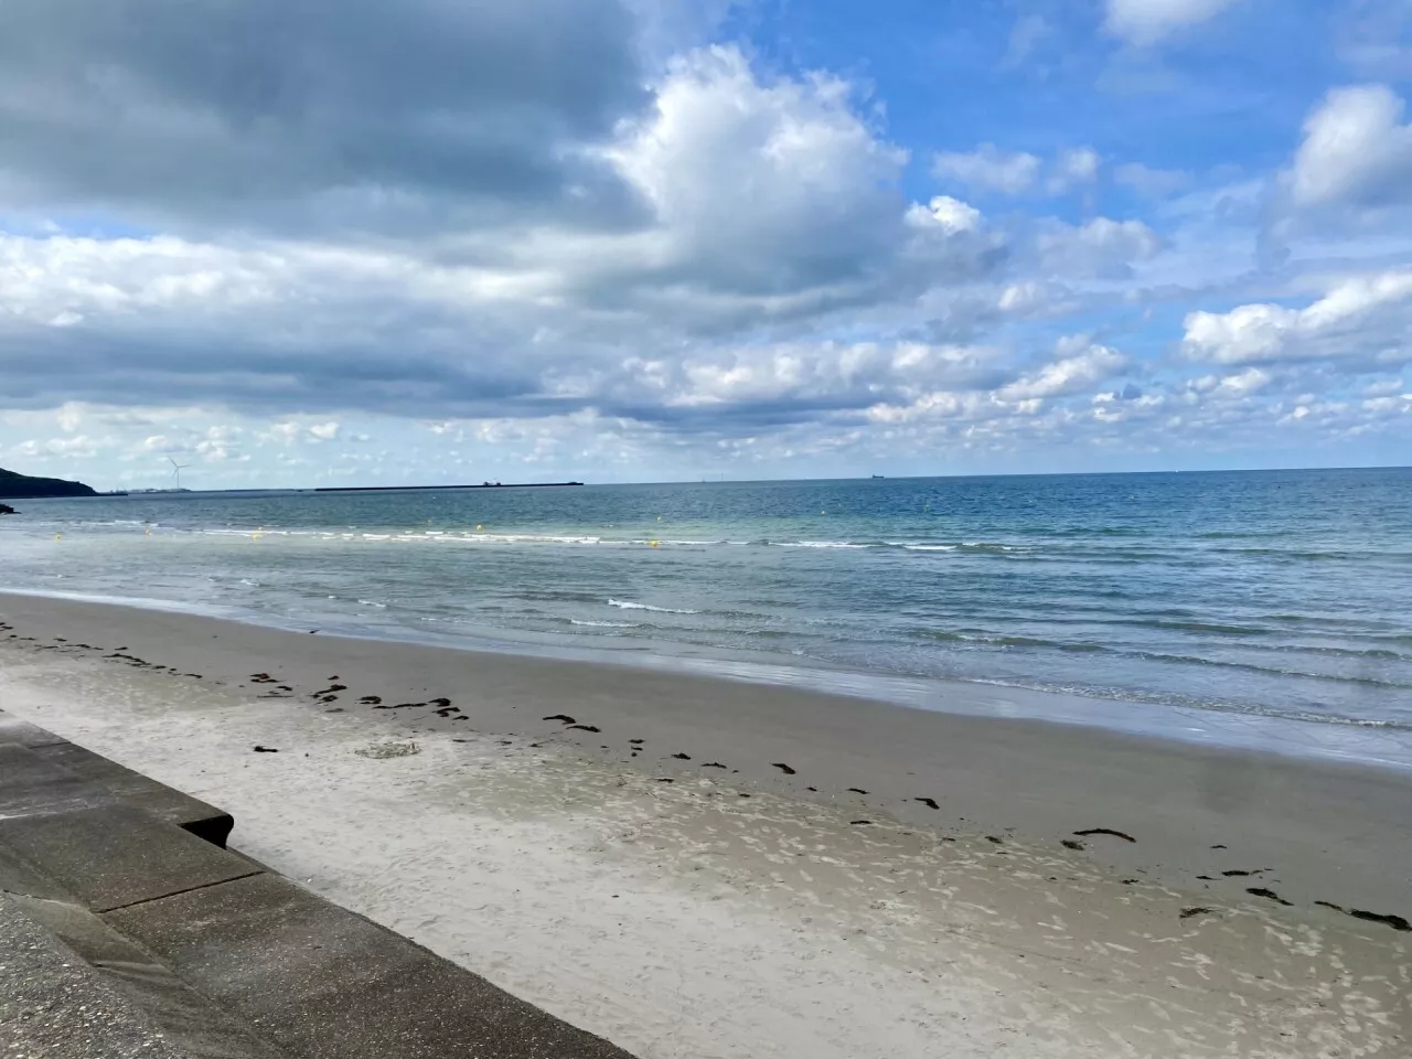
[[[249,861],[126,805],[0,820],[8,850],[95,912],[247,875]]]

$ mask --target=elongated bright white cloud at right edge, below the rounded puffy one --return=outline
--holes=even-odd
[[[1350,360],[1389,367],[1412,360],[1412,271],[1340,280],[1305,306],[1241,305],[1185,321],[1190,360],[1254,364]]]

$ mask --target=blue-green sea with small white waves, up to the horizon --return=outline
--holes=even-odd
[[[6,590],[1412,767],[1408,467],[13,503]]]

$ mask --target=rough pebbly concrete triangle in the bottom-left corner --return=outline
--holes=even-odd
[[[196,1059],[0,895],[0,1055]]]

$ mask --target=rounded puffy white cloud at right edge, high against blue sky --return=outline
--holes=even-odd
[[[1333,89],[1285,175],[1295,206],[1412,203],[1412,124],[1385,85]]]

